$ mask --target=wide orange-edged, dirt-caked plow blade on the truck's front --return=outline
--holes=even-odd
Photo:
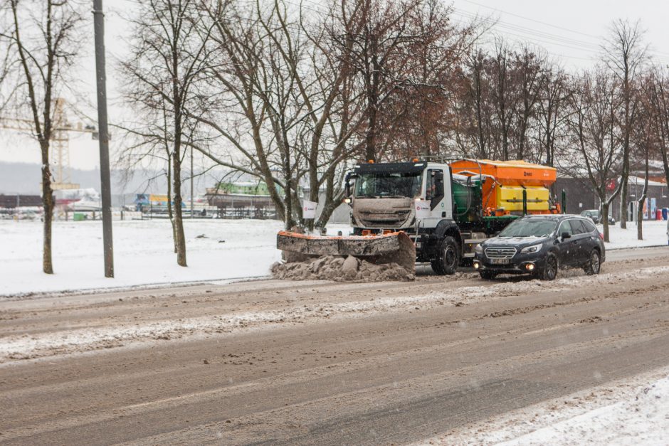
[[[416,264],[416,246],[409,235],[401,231],[329,237],[282,230],[276,236],[276,246],[283,250],[288,262],[322,255],[352,255],[376,264],[394,262],[411,271],[415,270]]]

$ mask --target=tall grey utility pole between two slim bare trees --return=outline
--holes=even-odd
[[[102,192],[102,243],[105,248],[105,277],[114,277],[112,240],[112,189],[109,172],[107,129],[107,74],[105,73],[105,14],[102,0],[93,0],[95,27],[95,75],[98,83],[98,127],[100,129],[100,189]]]

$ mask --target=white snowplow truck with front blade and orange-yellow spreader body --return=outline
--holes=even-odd
[[[555,179],[554,168],[525,161],[358,164],[346,176],[344,198],[352,235],[282,231],[277,245],[288,261],[353,255],[412,269],[428,262],[436,274],[451,275],[473,260],[476,245],[516,218],[561,213],[564,193],[560,206],[549,191]]]

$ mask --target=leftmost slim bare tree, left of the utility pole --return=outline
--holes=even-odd
[[[9,50],[4,59],[3,88],[11,91],[9,107],[30,116],[42,164],[43,256],[42,270],[53,274],[51,221],[52,176],[49,169],[51,138],[56,120],[56,100],[63,93],[68,70],[81,46],[82,16],[74,1],[9,0],[0,6],[0,39]]]

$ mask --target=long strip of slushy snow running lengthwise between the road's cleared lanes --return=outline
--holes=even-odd
[[[166,319],[147,324],[116,323],[113,326],[63,330],[45,334],[10,335],[0,341],[0,363],[34,359],[73,352],[91,351],[123,346],[129,343],[189,338],[209,334],[230,334],[250,329],[274,329],[285,324],[313,322],[318,319],[369,317],[381,312],[429,309],[437,305],[466,305],[482,299],[504,299],[519,292],[564,292],[598,283],[620,282],[629,277],[644,278],[669,272],[669,267],[647,267],[626,272],[596,276],[580,276],[578,280],[561,279],[553,282],[527,280],[495,285],[460,287],[451,292],[408,297],[385,297],[365,301],[314,303],[260,312],[239,312],[187,319]],[[490,314],[497,317],[503,314]]]

